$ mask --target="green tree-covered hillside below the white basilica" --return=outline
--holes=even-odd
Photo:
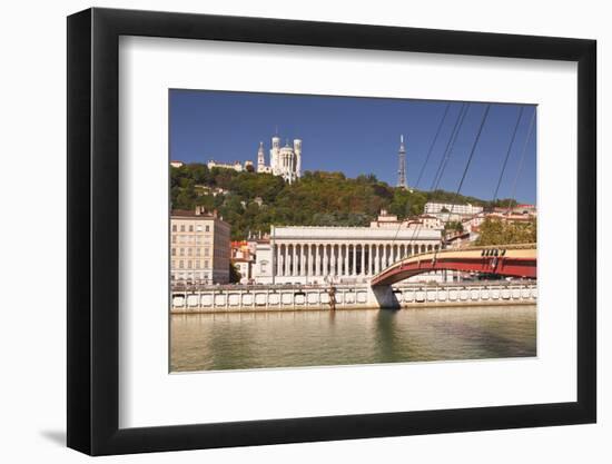
[[[270,225],[367,226],[381,209],[405,218],[423,213],[426,201],[451,201],[454,192],[408,191],[391,187],[374,175],[346,178],[342,172],[306,171],[293,185],[269,174],[208,169],[189,164],[171,168],[174,209],[196,205],[217,209],[231,224],[231,238],[269,231]],[[216,194],[216,195],[213,195]],[[457,196],[457,203],[488,206],[473,197]],[[506,200],[507,205],[507,200]]]

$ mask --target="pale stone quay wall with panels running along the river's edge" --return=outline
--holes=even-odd
[[[537,284],[477,282],[404,284],[372,288],[367,284],[330,286],[224,286],[174,289],[172,313],[330,310],[535,304]],[[335,302],[335,303],[334,303]]]

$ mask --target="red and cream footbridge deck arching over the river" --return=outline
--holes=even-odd
[[[371,285],[388,286],[418,274],[444,269],[536,278],[537,248],[535,244],[495,245],[422,253],[401,259],[376,274]]]

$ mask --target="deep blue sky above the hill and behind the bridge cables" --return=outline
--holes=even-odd
[[[430,161],[415,186],[447,105]],[[432,100],[170,90],[170,158],[185,162],[256,162],[259,141],[264,141],[269,162],[270,138],[278,127],[283,144],[285,139],[303,140],[304,170],[336,170],[347,177],[372,172],[396,185],[397,149],[403,134],[408,185],[428,190],[461,107],[462,102]],[[521,107],[522,117],[497,197],[512,194],[534,106],[491,105],[461,189],[463,195],[493,198]],[[467,107],[440,188],[456,191],[485,108],[486,103],[481,102]],[[536,124],[516,181],[515,197],[521,203],[535,204],[535,127]]]

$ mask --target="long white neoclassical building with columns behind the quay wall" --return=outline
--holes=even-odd
[[[273,227],[257,245],[256,284],[367,282],[402,257],[440,249],[442,231],[421,228]]]

